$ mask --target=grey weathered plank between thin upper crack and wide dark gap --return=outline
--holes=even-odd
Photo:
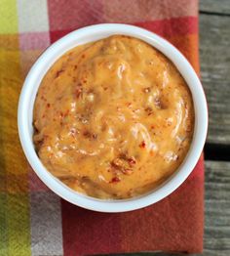
[[[229,24],[230,17],[200,16],[201,76],[210,113],[208,142],[230,145]]]

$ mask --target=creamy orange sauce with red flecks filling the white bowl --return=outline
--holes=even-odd
[[[172,62],[115,35],[72,49],[47,72],[34,107],[34,144],[73,190],[127,198],[176,171],[193,123],[190,91]]]

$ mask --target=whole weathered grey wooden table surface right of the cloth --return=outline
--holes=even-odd
[[[200,62],[210,126],[203,255],[230,255],[230,0],[200,2]]]

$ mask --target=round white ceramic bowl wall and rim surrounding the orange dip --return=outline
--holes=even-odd
[[[159,188],[138,197],[103,200],[74,192],[54,177],[39,159],[33,145],[33,105],[39,85],[49,68],[71,48],[96,41],[112,34],[139,38],[167,56],[187,82],[195,108],[195,127],[191,147],[182,164]],[[162,37],[145,29],[127,24],[96,24],[73,31],[51,45],[33,64],[19,97],[19,139],[22,149],[37,176],[65,200],[78,206],[100,212],[126,212],[153,204],[176,190],[194,169],[205,144],[208,130],[208,108],[203,87],[194,69],[183,55]]]

